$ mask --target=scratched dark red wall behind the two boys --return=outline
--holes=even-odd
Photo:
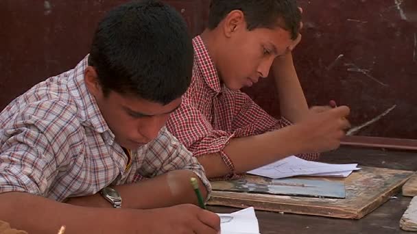
[[[0,1],[0,109],[88,53],[99,18],[121,0]],[[193,34],[209,0],[168,0]],[[394,109],[358,135],[417,139],[417,1],[298,1],[302,43],[294,51],[310,105],[350,105],[354,126]],[[336,58],[343,55],[339,60]],[[244,90],[278,116],[272,79]]]

